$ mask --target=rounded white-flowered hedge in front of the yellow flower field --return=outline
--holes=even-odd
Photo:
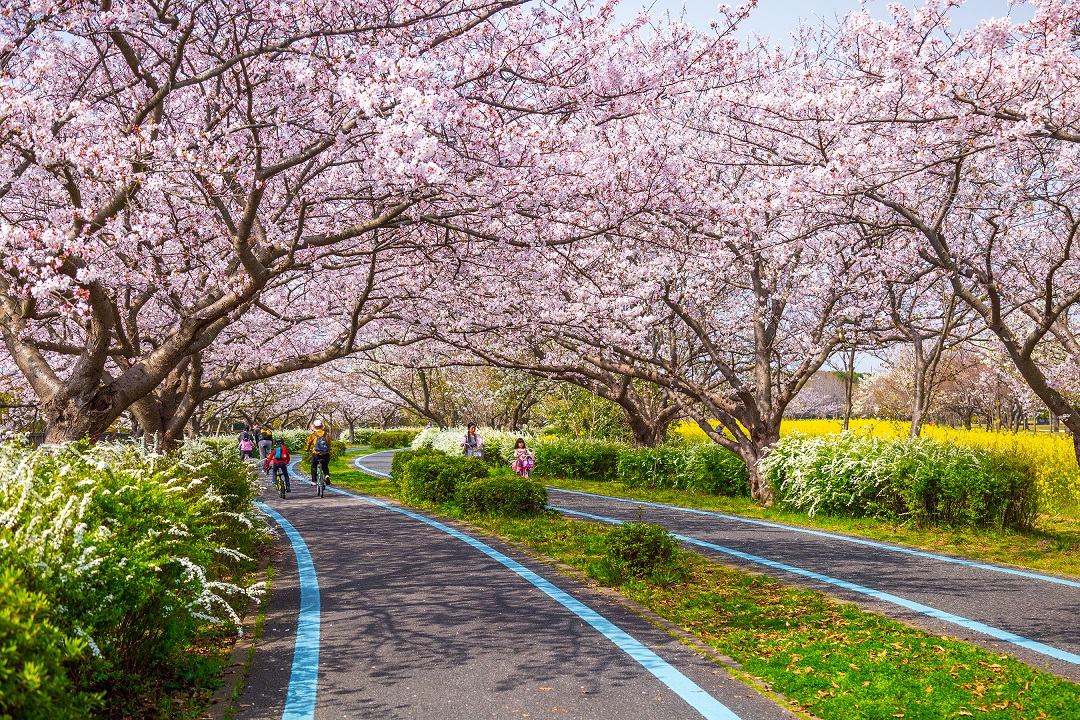
[[[779,502],[811,516],[1026,529],[1039,510],[1023,461],[926,438],[791,435],[761,468]]]

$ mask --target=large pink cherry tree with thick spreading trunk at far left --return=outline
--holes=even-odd
[[[635,27],[607,5],[521,4],[12,5],[0,327],[49,438],[136,404],[175,436],[207,393],[355,350],[437,240],[410,228],[595,195],[567,173],[590,128],[663,74],[612,71]],[[207,380],[241,322],[289,352]]]

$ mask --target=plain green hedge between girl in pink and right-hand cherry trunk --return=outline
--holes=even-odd
[[[596,440],[541,439],[534,445],[537,477],[568,477],[627,487],[748,495],[750,474],[739,456],[718,445],[635,448]]]

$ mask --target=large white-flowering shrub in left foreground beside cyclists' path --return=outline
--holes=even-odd
[[[204,443],[0,445],[0,563],[81,650],[75,691],[104,693],[104,715],[143,715],[147,694],[199,662],[210,628],[239,630],[264,589],[242,582],[266,535],[257,491],[231,448]]]

